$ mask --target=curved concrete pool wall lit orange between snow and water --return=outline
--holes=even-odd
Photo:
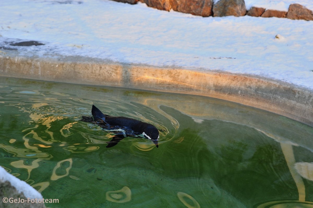
[[[208,96],[313,126],[312,90],[253,75],[85,57],[24,57],[8,50],[0,55],[0,76]]]

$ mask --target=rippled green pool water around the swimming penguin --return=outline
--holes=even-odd
[[[106,148],[113,134],[79,121],[92,104],[155,125],[159,148]],[[0,78],[0,165],[59,199],[47,207],[312,207],[312,138],[212,98]]]

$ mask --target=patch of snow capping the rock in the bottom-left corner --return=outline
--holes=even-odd
[[[29,184],[27,184],[25,181],[22,181],[13,175],[9,174],[3,167],[0,166],[0,183],[1,181],[9,181],[13,187],[16,188],[16,190],[19,191],[19,193],[23,193],[24,196],[30,199],[42,199],[42,195],[35,190],[33,187],[31,187]],[[9,196],[4,196],[9,197]]]

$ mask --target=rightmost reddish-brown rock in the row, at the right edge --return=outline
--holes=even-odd
[[[287,18],[313,20],[313,12],[300,4],[290,4]]]

